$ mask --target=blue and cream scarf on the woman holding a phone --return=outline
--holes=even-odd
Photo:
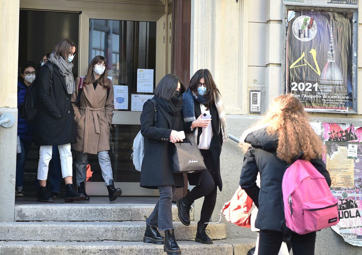
[[[184,121],[190,122],[190,121],[196,120],[194,98],[197,100],[197,98],[198,98],[197,95],[195,95],[194,92],[192,92],[190,89],[188,89],[182,96],[183,96],[183,101],[184,101],[184,105],[182,106],[182,114],[183,114]],[[215,94],[214,104],[216,106],[216,110],[218,111],[218,115],[219,115],[219,124],[220,124],[220,129],[221,129],[221,132],[223,135],[223,142],[227,142],[229,137],[228,137],[227,126],[226,126],[226,113],[225,113],[225,107],[223,104],[223,100],[222,100],[220,94]],[[194,130],[191,134],[187,134],[187,137],[191,142],[196,143],[197,134],[198,134],[198,127],[194,128]]]

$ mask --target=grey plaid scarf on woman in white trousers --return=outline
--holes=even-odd
[[[55,56],[54,51],[50,54],[48,60],[58,66],[59,71],[66,82],[68,94],[73,94],[75,91],[74,77],[72,74],[74,64],[72,62],[68,62],[68,60],[65,61],[63,57]]]

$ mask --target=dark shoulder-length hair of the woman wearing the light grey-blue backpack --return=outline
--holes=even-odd
[[[180,94],[183,94],[186,89],[182,80],[174,74],[165,75],[154,91],[155,96],[170,101],[176,93],[178,83],[181,84]]]

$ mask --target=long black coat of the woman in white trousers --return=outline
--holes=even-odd
[[[50,88],[50,70],[53,80]],[[40,67],[38,74],[38,101],[35,120],[35,144],[63,145],[77,142],[74,110],[63,75],[53,63]]]

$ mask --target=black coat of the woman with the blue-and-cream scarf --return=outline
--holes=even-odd
[[[198,118],[201,115],[201,108],[200,103],[196,100],[194,100],[195,105],[195,118]],[[216,109],[216,106],[214,104],[209,104],[210,106],[210,115],[211,115],[211,126],[212,126],[212,139],[210,143],[210,153],[212,156],[212,163],[213,163],[213,169],[216,171],[216,185],[218,185],[219,190],[221,191],[223,189],[223,183],[221,179],[220,174],[220,154],[221,149],[223,145],[223,136],[222,132],[220,130],[220,123],[219,123],[219,114],[218,110]],[[185,132],[191,133],[191,124],[190,122],[184,122],[184,128]],[[200,143],[200,136],[202,134],[203,128],[198,128],[198,134],[197,134],[197,144]],[[189,180],[190,185],[198,186],[200,184],[200,181],[202,179],[203,172],[201,173],[188,173],[187,179]]]

